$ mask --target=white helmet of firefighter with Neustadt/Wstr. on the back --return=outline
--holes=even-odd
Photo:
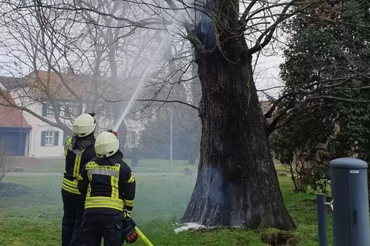
[[[113,132],[103,131],[95,140],[95,153],[99,158],[114,155],[119,149],[119,140]]]

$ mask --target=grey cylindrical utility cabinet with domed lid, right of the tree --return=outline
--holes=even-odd
[[[355,158],[330,162],[334,246],[370,246],[367,168]]]

